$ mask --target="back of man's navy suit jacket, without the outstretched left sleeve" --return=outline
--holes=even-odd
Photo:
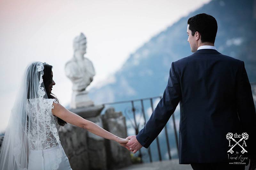
[[[214,49],[200,49],[173,62],[181,93],[181,164],[228,161],[229,132],[241,135],[249,130],[250,135],[256,135],[255,129],[250,131],[255,109],[243,67],[243,61]]]

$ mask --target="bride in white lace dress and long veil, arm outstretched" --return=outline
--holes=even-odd
[[[65,123],[125,146],[123,139],[68,111],[52,91],[52,66],[31,63],[22,79],[0,151],[1,170],[70,170],[58,130]]]

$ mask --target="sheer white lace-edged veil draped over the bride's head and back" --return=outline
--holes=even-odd
[[[58,145],[52,169],[57,169],[61,162],[58,120],[52,115],[52,103],[57,101],[47,97],[44,64],[34,62],[26,68],[0,151],[1,170],[27,170],[30,151],[40,153]],[[43,152],[42,159],[47,159]]]

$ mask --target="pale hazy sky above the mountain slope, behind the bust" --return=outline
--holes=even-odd
[[[73,38],[83,32],[100,86],[129,54],[189,12],[210,0],[0,0],[0,131],[8,122],[21,76],[28,63],[53,65],[53,93],[63,105],[71,98],[64,74],[73,56]],[[184,28],[186,34],[187,28]]]

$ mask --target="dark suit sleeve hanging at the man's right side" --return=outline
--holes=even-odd
[[[238,77],[236,78],[236,106],[240,123],[249,137],[246,140],[248,154],[256,154],[256,113],[250,85],[244,62],[242,62]]]

